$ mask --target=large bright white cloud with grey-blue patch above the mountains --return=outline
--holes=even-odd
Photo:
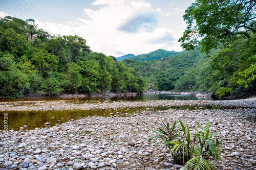
[[[91,5],[94,8],[84,8],[85,15],[80,15],[77,21],[57,23],[34,19],[38,28],[54,35],[76,34],[87,40],[92,51],[105,55],[139,55],[159,48],[182,50],[177,40],[185,26],[182,21],[169,20],[173,11],[154,8],[146,0],[95,0]],[[4,14],[0,12],[0,16]],[[168,27],[159,26],[159,21],[168,23]]]

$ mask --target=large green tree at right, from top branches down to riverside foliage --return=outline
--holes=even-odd
[[[196,0],[185,12],[188,26],[179,39],[181,46],[194,50],[202,45],[201,52],[206,54],[221,47],[212,60],[219,80],[226,81],[220,84],[228,87],[230,80],[245,87],[255,84],[256,0]]]

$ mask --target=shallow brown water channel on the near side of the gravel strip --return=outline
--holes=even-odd
[[[4,113],[8,113],[8,130],[19,130],[27,125],[24,130],[44,128],[46,122],[51,126],[62,124],[72,119],[80,119],[87,116],[130,116],[134,113],[145,111],[152,107],[120,108],[120,109],[92,109],[92,110],[61,110],[61,111],[6,111],[0,112],[0,130],[4,130]],[[199,109],[231,109],[234,107],[221,106],[172,106],[154,107],[154,111],[167,109],[199,110]],[[152,110],[153,111],[153,110]]]

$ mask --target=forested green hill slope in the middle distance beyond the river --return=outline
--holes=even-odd
[[[206,75],[212,71],[208,61],[209,58],[200,53],[198,47],[194,51],[184,51],[175,56],[126,65],[133,67],[146,80],[148,89],[208,91],[210,84],[207,82],[210,83],[210,80]]]

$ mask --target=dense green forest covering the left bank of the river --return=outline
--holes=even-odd
[[[115,57],[93,53],[86,40],[52,36],[33,19],[0,18],[0,95],[142,92],[145,81]]]

